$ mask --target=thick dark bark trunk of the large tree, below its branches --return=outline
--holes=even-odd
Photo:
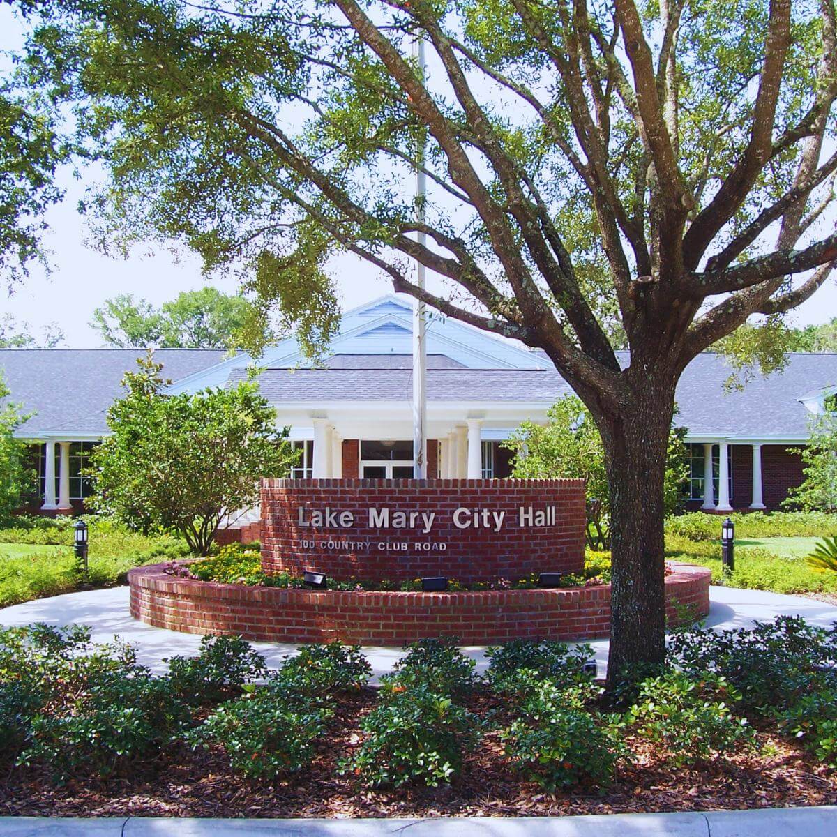
[[[611,692],[632,672],[665,659],[663,484],[673,412],[674,384],[644,382],[624,413],[601,427],[613,559]]]

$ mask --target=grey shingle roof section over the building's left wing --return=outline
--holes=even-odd
[[[125,372],[136,369],[142,349],[0,349],[0,372],[11,400],[34,413],[21,434],[60,429],[105,432],[105,412],[122,393]],[[177,380],[213,366],[221,349],[158,349],[163,377]]]

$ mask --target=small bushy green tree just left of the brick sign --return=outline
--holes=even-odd
[[[162,364],[151,353],[137,362],[91,457],[91,505],[144,530],[177,531],[206,555],[223,517],[253,506],[259,478],[286,475],[294,454],[253,381],[169,395]]]

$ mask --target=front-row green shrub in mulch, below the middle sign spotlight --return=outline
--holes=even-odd
[[[480,718],[427,684],[383,696],[361,721],[362,742],[341,762],[367,783],[436,787],[459,773],[465,752],[480,740]]]

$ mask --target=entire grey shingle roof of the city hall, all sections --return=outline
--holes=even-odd
[[[0,349],[12,399],[35,413],[23,433],[106,431],[105,412],[121,395],[123,374],[135,367],[137,349]],[[161,349],[163,374],[178,380],[220,362],[212,349]],[[409,355],[337,355],[331,368],[269,368],[259,377],[265,397],[283,403],[400,401],[412,398]],[[692,437],[803,439],[811,413],[799,398],[837,385],[837,354],[788,356],[783,372],[757,376],[742,392],[727,391],[730,368],[705,353],[686,368],[677,388],[678,423]],[[228,386],[245,377],[234,369]],[[432,402],[550,404],[571,390],[554,370],[466,369],[444,355],[429,357]]]

